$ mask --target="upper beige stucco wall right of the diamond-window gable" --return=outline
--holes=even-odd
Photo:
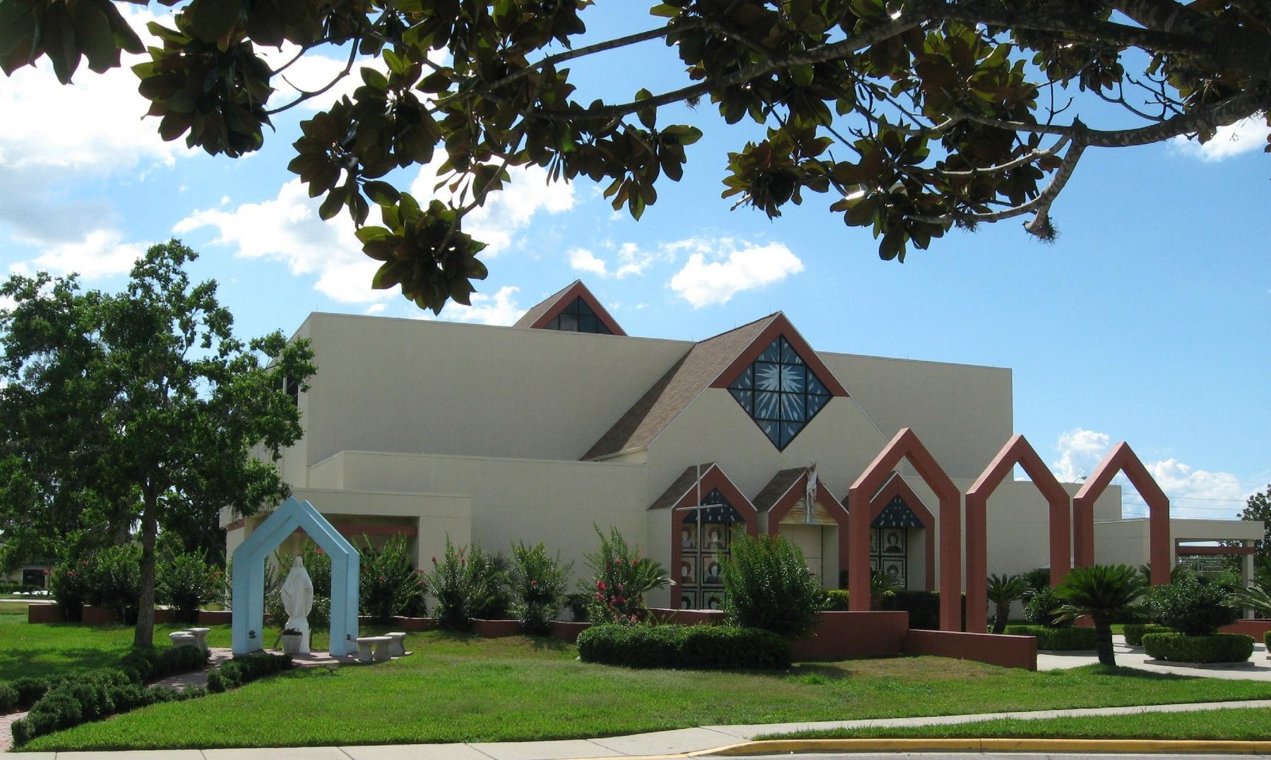
[[[1010,370],[820,353],[882,431],[911,427],[952,478],[977,478],[1014,433]]]

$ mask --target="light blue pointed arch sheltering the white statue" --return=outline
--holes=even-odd
[[[264,562],[297,527],[330,557],[330,655],[357,651],[357,549],[311,503],[290,497],[234,549],[235,655],[264,648]]]

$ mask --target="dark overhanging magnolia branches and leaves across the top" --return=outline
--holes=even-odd
[[[291,64],[271,69],[257,47],[294,46],[292,62],[339,47],[362,85],[302,122],[289,168],[324,219],[352,217],[383,262],[375,287],[435,311],[468,304],[486,276],[463,219],[508,168],[606,183],[638,219],[660,182],[681,178],[702,130],[719,128],[703,103],[764,132],[728,153],[724,198],[775,217],[825,194],[882,258],[904,261],[952,227],[1013,217],[1051,240],[1051,208],[1087,149],[1207,140],[1265,118],[1271,99],[1258,0],[628,0],[632,32],[608,39],[586,33],[592,4],[189,0],[175,28],[150,24],[160,43],[133,71],[165,140],[238,156],[316,94],[268,107]],[[681,81],[574,97],[574,70],[651,44],[679,58]],[[111,0],[0,0],[5,72],[48,56],[66,83],[81,58],[103,71],[142,48]],[[699,109],[694,123],[666,123],[679,104]],[[435,155],[452,201],[385,179]],[[372,205],[381,224],[367,224]]]

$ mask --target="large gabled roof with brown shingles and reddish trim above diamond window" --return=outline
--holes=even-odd
[[[803,341],[785,315],[778,311],[695,343],[684,358],[667,370],[582,459],[601,459],[644,449],[703,390],[727,388],[778,336],[785,337],[831,395],[848,395],[834,372]]]

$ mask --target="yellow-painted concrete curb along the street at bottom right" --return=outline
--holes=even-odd
[[[1139,738],[803,738],[749,741],[681,757],[727,757],[774,752],[1192,752],[1223,755],[1271,754],[1271,741],[1139,740]],[[662,755],[665,757],[665,755]],[[675,755],[672,755],[674,757]],[[636,759],[630,759],[636,760]]]

